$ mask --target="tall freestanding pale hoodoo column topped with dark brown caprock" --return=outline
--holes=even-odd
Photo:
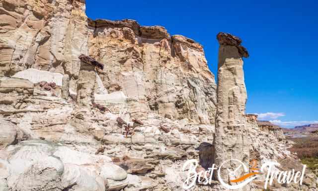
[[[241,40],[228,33],[217,35],[220,43],[218,63],[217,116],[215,129],[215,163],[220,166],[230,159],[238,159],[247,167],[249,163],[249,140],[245,128],[246,88],[244,83],[243,60],[248,53],[240,45]],[[234,161],[224,164],[222,179],[231,185],[229,170],[234,171],[239,163]],[[240,171],[240,170],[239,170]],[[240,175],[243,172],[236,174]]]

